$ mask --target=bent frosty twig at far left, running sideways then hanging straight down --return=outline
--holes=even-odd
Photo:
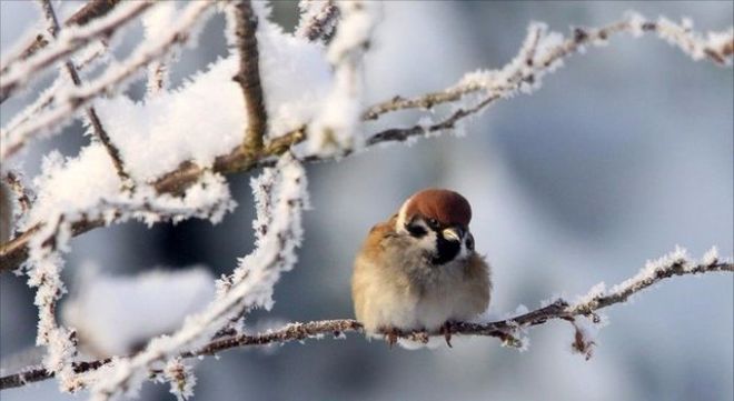
[[[99,205],[77,211],[83,215],[100,215],[100,219],[140,218],[150,224],[162,219],[173,222],[191,215],[221,220],[227,210],[234,208],[226,181],[214,174],[205,176],[200,187],[191,187],[185,197],[159,197],[150,188],[135,192],[122,192],[120,199],[102,200]],[[57,301],[66,292],[60,278],[63,267],[62,251],[68,251],[71,224],[63,213],[58,213],[56,225],[39,229],[30,241],[29,285],[37,287],[34,303],[39,309],[37,344],[48,349],[44,369],[59,378],[62,391],[77,391],[88,385],[90,378],[81,377],[72,364],[76,357],[76,333],[56,322]],[[93,378],[92,378],[93,379]]]

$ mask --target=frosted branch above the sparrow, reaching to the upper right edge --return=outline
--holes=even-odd
[[[517,57],[504,68],[470,72],[445,90],[414,98],[396,96],[368,108],[363,114],[365,120],[377,120],[383,114],[400,110],[430,110],[440,104],[453,104],[455,109],[442,121],[388,129],[371,136],[369,141],[403,141],[414,136],[455,128],[458,120],[483,110],[496,100],[513,97],[518,92],[532,93],[540,87],[543,77],[561,67],[565,58],[584,52],[587,47],[607,46],[608,40],[619,33],[628,33],[635,38],[654,33],[678,47],[694,60],[708,59],[722,66],[731,66],[734,57],[734,28],[708,32],[704,38],[692,30],[690,20],[684,20],[682,24],[665,18],[649,21],[631,12],[626,18],[602,28],[575,28],[573,36],[566,39],[557,32],[548,32],[545,23],[534,22],[528,27],[527,37]]]

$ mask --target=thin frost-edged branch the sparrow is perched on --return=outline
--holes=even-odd
[[[520,340],[517,340],[515,334],[529,327],[540,325],[550,320],[567,320],[574,323],[575,318],[579,315],[595,317],[596,311],[616,303],[624,303],[631,295],[665,279],[676,275],[693,275],[712,272],[734,272],[734,263],[728,261],[720,262],[715,257],[715,253],[705,255],[700,262],[692,262],[687,259],[685,251],[678,249],[657,261],[648,262],[637,275],[614,287],[611,292],[599,292],[595,287],[595,289],[592,289],[589,292],[591,297],[587,295],[574,304],[569,304],[565,300],[559,299],[546,307],[509,319],[488,323],[458,322],[450,324],[448,330],[453,335],[495,337],[500,339],[505,344],[517,347]],[[291,341],[320,338],[323,335],[341,338],[344,333],[361,332],[361,324],[353,319],[289,323],[281,329],[260,334],[239,334],[218,339],[196,351],[184,352],[180,357],[196,358],[212,355],[234,348],[284,344]],[[426,343],[430,337],[444,337],[446,333],[413,331],[400,332],[398,335],[408,341]],[[578,339],[575,339],[574,341],[576,342],[577,340]],[[76,373],[92,371],[110,361],[111,359],[75,362],[73,371]],[[19,373],[0,378],[0,390],[22,387],[52,377],[52,372],[48,372],[42,368],[27,368]]]

